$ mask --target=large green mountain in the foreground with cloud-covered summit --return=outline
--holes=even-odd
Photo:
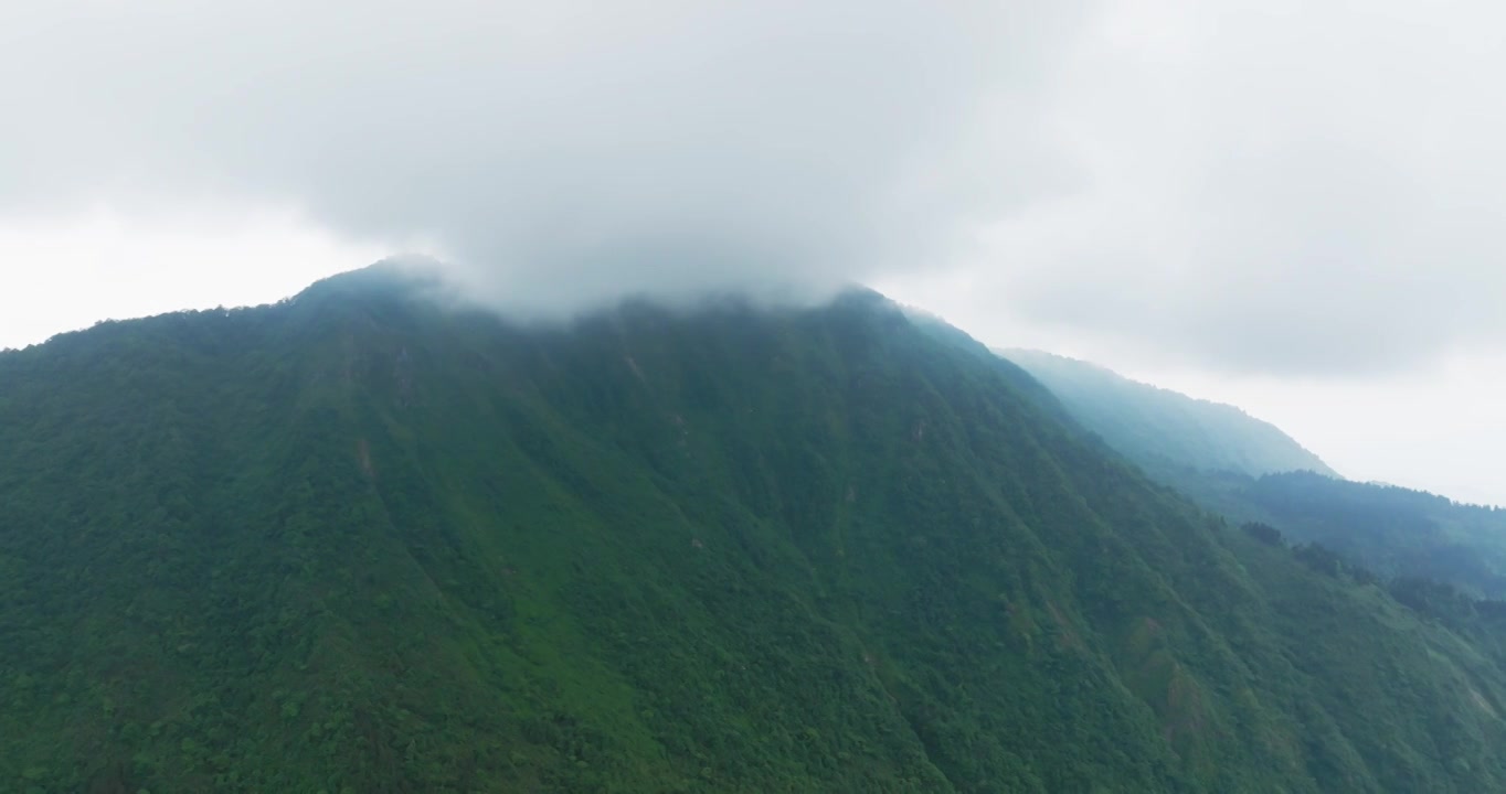
[[[0,505],[3,789],[1506,785],[1492,615],[1230,529],[873,293],[521,328],[376,268],[102,323],[0,355]]]

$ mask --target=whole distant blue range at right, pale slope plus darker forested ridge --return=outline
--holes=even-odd
[[[1506,599],[1506,511],[1339,478],[1279,429],[1102,367],[1032,350],[1026,367],[1083,426],[1152,477],[1235,522],[1319,543],[1378,576]]]

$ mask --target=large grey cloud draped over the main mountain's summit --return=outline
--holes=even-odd
[[[0,12],[0,208],[297,203],[524,313],[935,265],[1066,164],[1078,3],[59,3]],[[72,8],[65,8],[72,6]],[[145,8],[151,6],[151,8]]]

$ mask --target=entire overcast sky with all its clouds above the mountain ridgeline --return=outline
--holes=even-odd
[[[312,8],[310,8],[312,6]],[[420,250],[849,281],[1506,502],[1485,2],[0,0],[0,346]]]

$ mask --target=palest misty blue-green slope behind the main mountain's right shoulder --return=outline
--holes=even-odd
[[[1077,421],[1148,471],[1337,474],[1270,423],[1244,411],[1123,377],[1086,361],[1039,350],[1000,350],[1024,367]]]

